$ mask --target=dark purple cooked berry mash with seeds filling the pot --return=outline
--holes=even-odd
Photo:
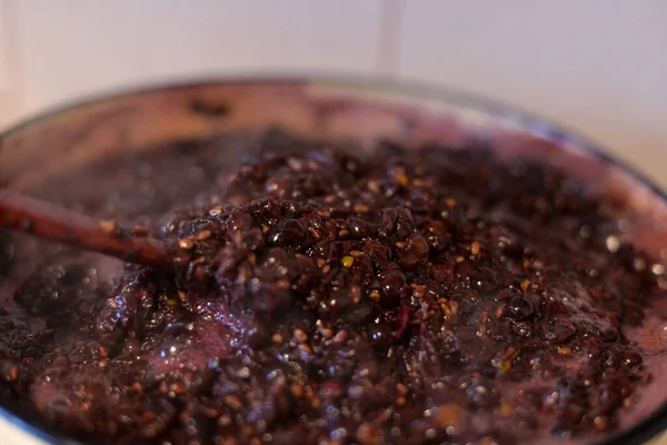
[[[173,270],[109,285],[58,247],[4,279],[4,404],[96,444],[490,445],[590,439],[640,397],[624,330],[664,268],[566,171],[481,144],[355,157],[270,132],[228,174],[202,147],[117,179],[190,199],[136,228]],[[3,234],[3,274],[20,243]]]

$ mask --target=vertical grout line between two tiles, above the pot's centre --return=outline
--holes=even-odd
[[[400,63],[405,0],[384,0],[380,7],[380,32],[376,70],[380,76],[394,78]]]

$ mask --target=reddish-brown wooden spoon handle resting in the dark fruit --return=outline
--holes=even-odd
[[[42,239],[113,256],[128,263],[166,268],[171,266],[168,246],[142,238],[110,221],[98,221],[52,202],[0,189],[0,227]]]

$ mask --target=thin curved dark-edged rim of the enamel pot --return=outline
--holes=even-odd
[[[88,95],[83,99],[66,101],[60,105],[47,108],[46,111],[38,112],[31,117],[19,120],[10,125],[3,131],[0,131],[0,146],[2,140],[9,138],[14,132],[18,132],[32,125],[48,121],[61,113],[73,111],[87,106],[108,100],[122,99],[135,95],[147,92],[160,92],[192,87],[213,87],[223,85],[263,85],[263,86],[281,86],[281,85],[327,85],[339,88],[362,89],[377,92],[398,92],[406,97],[428,98],[441,103],[450,103],[479,111],[500,120],[514,122],[517,129],[542,137],[557,144],[571,144],[580,148],[586,155],[597,158],[599,161],[610,164],[618,167],[629,177],[636,179],[641,185],[647,187],[657,198],[667,202],[667,194],[663,191],[655,182],[648,179],[644,174],[630,167],[623,160],[607,155],[601,145],[591,141],[589,138],[580,136],[577,131],[573,131],[565,126],[554,122],[550,119],[541,118],[539,115],[522,110],[520,107],[507,105],[500,100],[487,99],[481,95],[461,91],[446,86],[431,86],[424,82],[392,80],[388,78],[368,78],[362,76],[346,76],[346,75],[229,75],[229,76],[206,76],[193,77],[189,80],[181,81],[159,81],[159,82],[142,82],[135,87],[121,87],[111,89],[110,91]],[[0,418],[7,423],[17,426],[24,433],[32,435],[34,438],[42,441],[46,444],[52,445],[81,445],[82,442],[67,438],[58,433],[56,428],[44,427],[38,422],[29,419],[29,409],[23,406],[6,407],[0,406]],[[619,434],[608,437],[604,441],[594,442],[595,445],[640,445],[651,438],[655,438],[659,433],[667,429],[667,400],[653,411],[644,421],[639,422],[631,428],[621,431]]]

